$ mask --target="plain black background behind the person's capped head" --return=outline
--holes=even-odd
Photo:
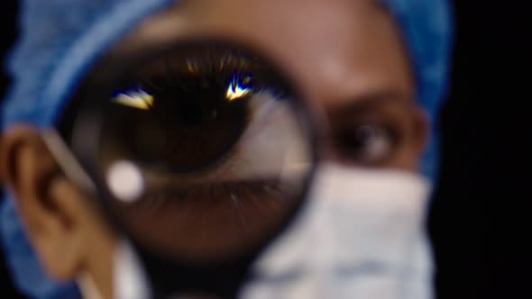
[[[429,219],[438,298],[532,298],[532,10],[526,0],[454,2],[453,83]],[[0,15],[3,55],[16,33],[15,1],[2,1]],[[0,284],[0,298],[18,298],[3,265]]]

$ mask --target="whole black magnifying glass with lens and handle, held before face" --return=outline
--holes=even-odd
[[[154,296],[234,297],[316,165],[289,77],[243,44],[179,41],[87,77],[75,98],[70,163],[49,135],[50,149],[131,240]]]

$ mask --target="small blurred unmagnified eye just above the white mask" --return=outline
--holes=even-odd
[[[344,157],[368,166],[389,159],[397,144],[396,135],[390,127],[372,122],[341,131],[336,140]]]

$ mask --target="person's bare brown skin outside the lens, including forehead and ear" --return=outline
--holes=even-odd
[[[288,69],[324,128],[323,159],[417,171],[426,116],[399,30],[382,7],[370,0],[188,1],[142,23],[108,58],[187,36],[246,41]],[[368,124],[391,128],[393,141],[363,149],[344,142]],[[15,124],[0,145],[2,181],[44,268],[59,280],[88,274],[112,298],[117,236],[96,205],[61,173],[40,131]]]

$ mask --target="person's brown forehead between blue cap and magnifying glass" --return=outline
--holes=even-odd
[[[413,93],[399,30],[373,0],[188,0],[142,23],[114,52],[187,36],[250,43],[333,104],[364,93]]]

